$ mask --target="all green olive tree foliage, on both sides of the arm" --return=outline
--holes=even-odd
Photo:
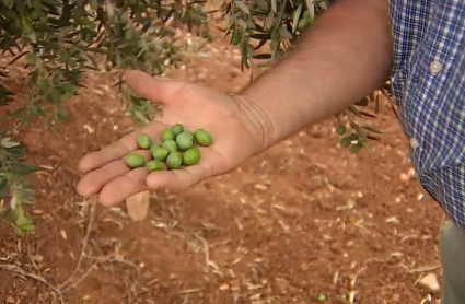
[[[23,104],[11,115],[19,127],[31,118],[68,120],[62,103],[79,94],[86,71],[120,71],[136,68],[150,74],[163,73],[166,66],[181,59],[174,45],[174,28],[186,26],[211,42],[202,1],[190,0],[0,0],[0,50],[13,56],[10,63],[23,58],[28,71],[28,87]],[[332,3],[333,0],[216,0],[223,12],[224,37],[242,52],[241,67],[266,67],[278,60]],[[220,2],[218,2],[220,1]],[[269,46],[270,51],[258,51]],[[2,84],[8,67],[0,67],[0,105],[13,101],[13,92]],[[116,85],[121,89],[123,77]],[[360,107],[374,104],[373,92],[337,115],[336,132],[340,145],[352,153],[367,149],[369,140],[381,133],[374,126],[359,125],[356,119],[374,117]],[[140,124],[158,113],[154,106],[130,91],[127,112]],[[23,163],[24,149],[0,133],[0,199],[8,201],[3,213],[12,219],[21,235],[33,227],[23,206],[32,201],[32,189],[24,182],[28,173],[39,169]]]

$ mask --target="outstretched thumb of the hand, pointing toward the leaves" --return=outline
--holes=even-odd
[[[127,84],[140,96],[155,104],[165,104],[179,91],[184,83],[173,80],[161,80],[136,70],[125,72]]]

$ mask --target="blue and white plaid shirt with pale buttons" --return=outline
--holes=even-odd
[[[465,0],[390,0],[393,95],[425,189],[465,231]]]

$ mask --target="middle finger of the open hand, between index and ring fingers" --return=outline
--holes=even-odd
[[[143,156],[144,161],[150,161],[150,152],[147,150],[135,151]],[[111,180],[117,178],[129,172],[130,168],[126,165],[124,160],[113,161],[103,167],[92,171],[86,174],[78,184],[78,192],[83,197],[90,197],[98,192],[103,186]]]

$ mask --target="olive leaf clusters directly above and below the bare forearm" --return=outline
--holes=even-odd
[[[299,39],[334,0],[224,0],[221,3],[228,23],[224,31],[232,45],[242,52],[242,69],[251,68],[253,59],[278,60]],[[258,52],[264,46],[270,52]],[[258,63],[257,67],[267,63]],[[380,94],[388,95],[390,87],[380,89],[337,115],[336,132],[340,145],[356,154],[368,149],[368,141],[377,140],[381,131],[371,125],[359,125],[357,118],[375,117],[380,109]],[[360,109],[373,105],[373,112]]]

